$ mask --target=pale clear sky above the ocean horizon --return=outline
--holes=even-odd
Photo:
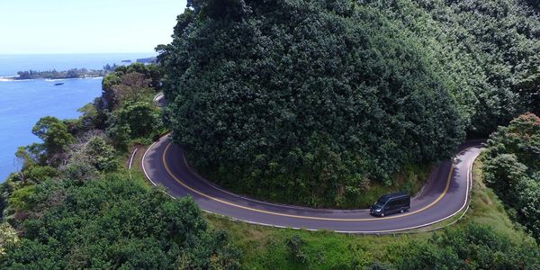
[[[151,52],[186,0],[0,0],[0,54]]]

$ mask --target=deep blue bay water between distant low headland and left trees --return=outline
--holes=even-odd
[[[31,128],[41,117],[76,119],[77,110],[100,96],[101,78],[67,79],[51,82],[45,79],[0,81],[0,183],[17,171],[14,154],[17,148],[40,142]],[[65,83],[56,86],[57,83]],[[2,268],[2,267],[0,267]]]

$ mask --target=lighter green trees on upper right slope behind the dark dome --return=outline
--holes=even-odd
[[[537,112],[540,20],[522,0],[362,1],[401,24],[436,56],[468,118],[470,136],[486,137],[523,112]]]

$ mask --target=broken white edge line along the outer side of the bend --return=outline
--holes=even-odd
[[[152,181],[152,179],[148,176],[148,173],[146,171],[146,168],[144,166],[144,159],[148,153],[148,151],[154,147],[154,145],[161,141],[161,139],[163,138],[166,138],[168,136],[165,135],[163,136],[162,138],[158,139],[157,141],[155,141],[154,143],[152,143],[150,145],[150,147],[148,147],[148,149],[144,152],[144,155],[142,156],[142,170],[144,171],[144,175],[147,176],[148,180],[154,184],[155,186],[157,186],[156,183],[154,183],[154,181]],[[472,147],[474,148],[474,147]],[[467,148],[465,148],[467,149]],[[464,149],[464,150],[465,150]],[[463,150],[462,150],[463,151]],[[473,158],[473,161],[471,162],[471,164],[469,165],[469,167],[467,168],[468,170],[468,174],[467,174],[467,192],[465,193],[465,201],[464,201],[464,205],[462,205],[462,207],[458,210],[458,211],[455,211],[453,214],[443,218],[443,219],[439,219],[439,220],[435,220],[435,221],[431,221],[431,222],[428,222],[428,223],[425,223],[425,224],[421,224],[421,225],[417,225],[417,226],[412,226],[412,227],[408,227],[408,228],[402,228],[402,229],[386,229],[386,230],[333,230],[333,229],[330,229],[330,230],[333,230],[335,232],[338,232],[338,233],[350,233],[350,234],[380,234],[380,233],[392,233],[392,232],[403,232],[403,233],[418,233],[417,231],[403,231],[403,230],[410,230],[410,229],[419,229],[419,228],[422,228],[422,227],[427,227],[429,225],[432,225],[432,224],[435,224],[435,223],[438,223],[438,222],[441,222],[441,221],[444,221],[444,220],[447,220],[447,219],[450,219],[452,217],[455,216],[455,214],[457,214],[458,212],[464,210],[464,207],[467,206],[467,210],[469,209],[468,207],[468,197],[469,197],[469,192],[471,191],[471,187],[472,187],[472,181],[473,181],[473,173],[471,171],[471,168],[473,167],[473,163],[474,163],[474,160],[476,160],[478,156],[474,157]],[[454,169],[454,163],[452,164],[452,169]],[[175,199],[174,196],[172,196],[171,194],[167,193],[167,195],[169,195],[171,198]],[[297,228],[297,227],[287,227],[287,226],[282,226],[282,225],[274,225],[274,224],[267,224],[267,223],[260,223],[260,222],[257,222],[257,221],[251,221],[251,220],[241,220],[241,219],[236,219],[236,218],[233,218],[233,217],[229,217],[229,216],[225,216],[225,215],[222,215],[222,214],[218,214],[218,213],[215,213],[215,212],[212,212],[212,211],[208,211],[208,210],[205,210],[205,209],[202,209],[202,211],[205,211],[205,212],[208,212],[208,213],[211,213],[211,214],[214,214],[214,215],[218,215],[218,216],[221,216],[221,217],[225,217],[225,218],[228,218],[229,220],[239,220],[239,221],[243,221],[243,222],[246,222],[246,223],[249,223],[249,224],[256,224],[256,225],[261,225],[261,226],[267,226],[267,227],[274,227],[274,228],[288,228],[288,229],[305,229],[305,230],[311,230],[311,231],[317,231],[317,230],[320,230],[320,229],[311,229],[311,228]],[[465,210],[466,212],[466,210]],[[464,213],[465,213],[464,212]],[[462,215],[462,217],[464,216],[464,214]],[[460,217],[460,219],[462,218]],[[457,221],[457,220],[455,220]],[[455,222],[449,224],[449,225],[452,225],[454,224]],[[445,227],[442,227],[442,228],[446,228]],[[438,228],[438,229],[442,229],[442,228]],[[436,230],[436,229],[433,229],[433,230]]]

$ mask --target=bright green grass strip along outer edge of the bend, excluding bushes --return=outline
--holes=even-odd
[[[482,182],[482,162],[473,166],[473,191],[470,209],[464,218],[452,226],[465,226],[470,222],[490,225],[500,234],[520,241],[531,241],[526,233],[509,219],[502,202]],[[351,269],[370,266],[373,262],[392,263],[402,254],[402,248],[411,241],[427,241],[437,232],[411,234],[362,236],[339,234],[331,231],[308,231],[277,229],[229,220],[218,215],[205,213],[214,229],[229,232],[232,242],[243,252],[242,266],[246,269]],[[460,214],[456,215],[456,217]],[[456,219],[456,218],[455,218]],[[446,220],[434,225],[448,225]],[[286,246],[287,239],[300,236],[305,244],[300,248],[305,261],[295,259]]]

